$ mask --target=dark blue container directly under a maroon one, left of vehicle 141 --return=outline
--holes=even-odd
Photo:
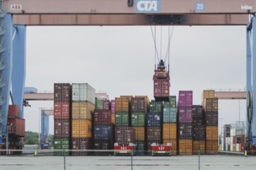
[[[95,140],[112,140],[114,136],[114,128],[112,124],[95,124],[94,139]]]

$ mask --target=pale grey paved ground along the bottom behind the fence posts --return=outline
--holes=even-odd
[[[192,156],[134,156],[133,166],[129,156],[66,156],[66,167],[62,156],[0,156],[0,169],[5,170],[181,170],[199,169],[199,157]],[[227,170],[246,169],[255,170],[256,157],[232,155],[201,155],[200,169]]]

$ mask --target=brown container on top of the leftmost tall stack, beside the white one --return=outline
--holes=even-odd
[[[70,101],[71,84],[54,83],[54,101]]]

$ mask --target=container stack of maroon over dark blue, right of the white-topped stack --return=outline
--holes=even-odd
[[[104,103],[104,102],[103,102]],[[111,111],[95,109],[94,112],[94,149],[112,150],[114,128],[111,123]],[[109,155],[108,152],[95,152],[95,155]]]

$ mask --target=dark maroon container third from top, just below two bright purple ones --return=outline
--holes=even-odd
[[[178,138],[179,139],[192,139],[192,123],[179,123],[178,124]]]

